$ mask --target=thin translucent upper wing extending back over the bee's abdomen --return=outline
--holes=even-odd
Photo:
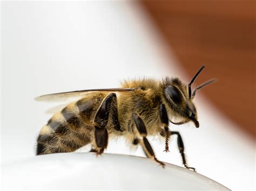
[[[88,93],[92,93],[95,91],[133,91],[135,88],[111,88],[111,89],[86,89],[86,90],[76,90],[76,91],[66,91],[62,93],[55,94],[46,94],[35,98],[35,101],[66,101],[69,98],[82,98]]]

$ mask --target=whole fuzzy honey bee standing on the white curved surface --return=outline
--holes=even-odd
[[[133,145],[142,145],[148,158],[161,166],[147,136],[165,138],[165,152],[169,152],[169,139],[177,135],[183,165],[188,167],[184,144],[177,131],[170,131],[169,122],[176,125],[193,122],[199,128],[197,110],[193,103],[196,91],[215,82],[209,80],[191,92],[191,84],[205,68],[202,66],[191,82],[185,84],[178,77],[165,77],[162,81],[142,79],[125,81],[121,88],[89,89],[48,94],[38,101],[66,96],[83,96],[51,117],[37,138],[36,154],[73,152],[91,144],[91,152],[102,154],[109,137],[123,136]],[[179,121],[174,122],[174,119]]]

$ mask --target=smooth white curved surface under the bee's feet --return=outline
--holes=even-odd
[[[229,190],[185,168],[120,154],[41,155],[11,162],[3,174],[4,189]]]

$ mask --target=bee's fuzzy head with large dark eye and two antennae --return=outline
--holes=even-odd
[[[188,85],[182,83],[177,77],[172,79],[166,77],[164,79],[163,84],[161,84],[164,102],[167,103],[169,108],[172,110],[172,115],[183,118],[183,121],[181,122],[176,123],[171,121],[171,123],[180,125],[192,121],[196,128],[199,128],[197,110],[193,103],[193,98],[198,89],[215,82],[214,79],[209,80],[194,89],[191,94],[191,84],[204,68],[205,66],[202,66],[198,70]]]

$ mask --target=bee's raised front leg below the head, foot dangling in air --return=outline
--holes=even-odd
[[[161,120],[162,126],[164,126],[164,131],[165,131],[165,150],[164,151],[165,152],[170,152],[169,151],[169,139],[170,139],[171,133],[170,133],[170,130],[168,128],[169,118],[168,118],[168,115],[167,115],[165,105],[163,103],[160,104],[159,114],[160,114],[160,120]]]

